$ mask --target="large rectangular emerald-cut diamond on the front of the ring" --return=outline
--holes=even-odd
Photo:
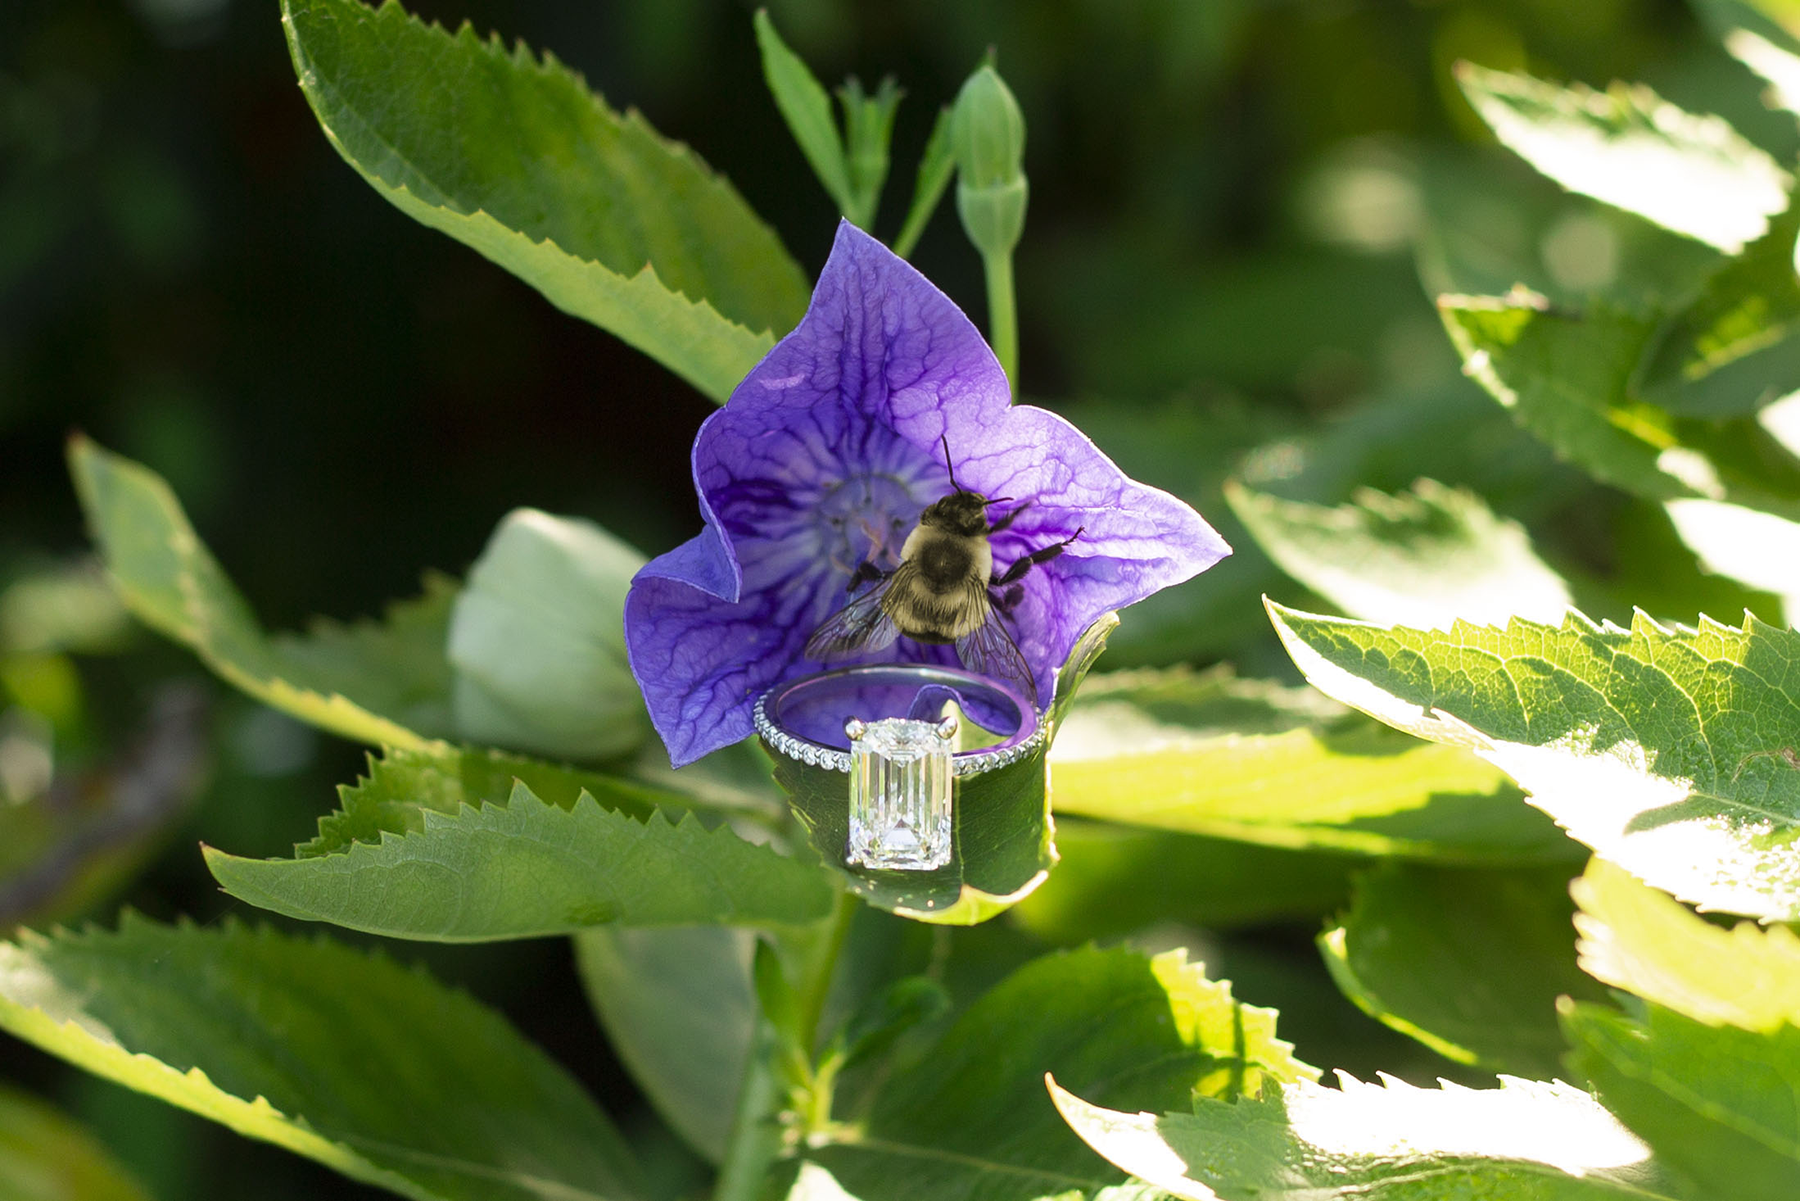
[[[950,862],[956,722],[850,722],[850,846],[864,868],[931,871]]]

